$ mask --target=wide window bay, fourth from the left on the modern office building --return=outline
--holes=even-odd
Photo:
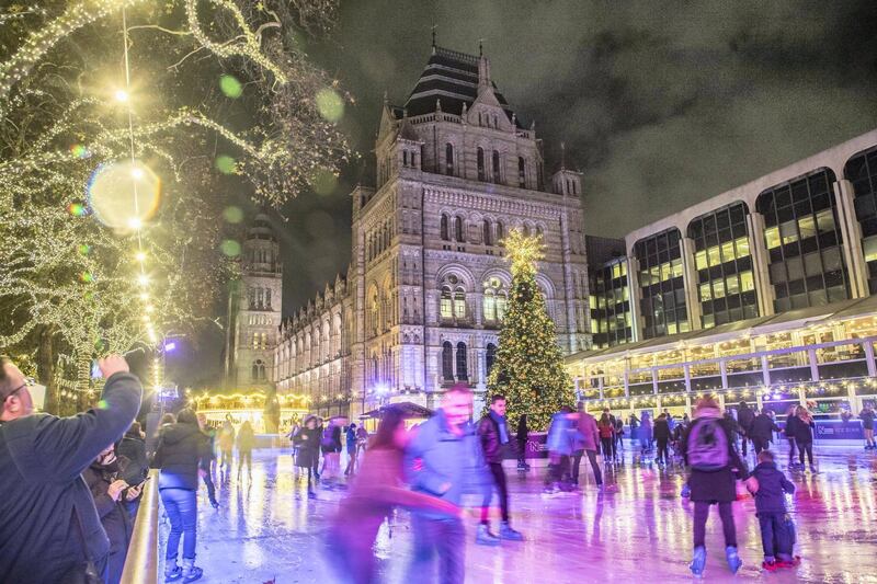
[[[777,312],[850,298],[834,204],[834,173],[820,169],[759,195]]]

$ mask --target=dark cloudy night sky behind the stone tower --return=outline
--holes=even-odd
[[[620,237],[877,127],[870,0],[342,0],[333,38],[306,50],[355,96],[342,124],[362,158],[277,219],[285,314],[346,271],[348,195],[373,184],[384,92],[405,103],[433,24],[446,48],[477,55],[483,39],[549,173],[566,142],[592,234]]]

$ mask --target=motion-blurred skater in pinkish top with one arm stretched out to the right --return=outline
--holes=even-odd
[[[458,506],[403,486],[402,457],[410,439],[403,416],[403,412],[392,405],[381,411],[372,447],[363,457],[350,494],[341,502],[329,530],[328,563],[338,570],[341,582],[380,582],[372,548],[380,524],[392,513],[394,507],[432,511],[448,517],[459,516]]]

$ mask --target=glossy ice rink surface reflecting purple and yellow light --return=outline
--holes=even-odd
[[[724,560],[718,515],[708,524],[707,582],[877,583],[877,454],[852,447],[817,447],[819,474],[794,476],[798,486],[795,519],[796,570],[760,572],[761,540],[753,501],[734,507],[740,556],[744,565],[732,577]],[[592,483],[581,494],[540,496],[543,474],[510,474],[513,523],[526,536],[523,543],[501,548],[467,543],[467,582],[581,583],[691,581],[692,508],[680,499],[683,476],[642,466],[627,454],[611,481],[614,494],[599,495]],[[592,480],[590,472],[586,474]],[[221,508],[200,494],[198,564],[203,582],[277,584],[334,582],[321,553],[321,537],[338,508],[341,492],[305,496],[304,482],[293,476],[286,451],[263,450],[254,456],[252,478],[235,469],[219,480]],[[467,520],[469,536],[475,518]],[[379,538],[387,582],[401,582],[411,546],[409,519],[399,512],[391,537]],[[351,529],[355,529],[351,525]],[[164,531],[167,527],[164,528]],[[386,535],[386,534],[385,534]],[[164,534],[162,533],[162,540]],[[422,582],[430,582],[424,574]]]

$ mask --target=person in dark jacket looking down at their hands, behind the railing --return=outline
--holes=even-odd
[[[125,557],[134,531],[134,519],[128,513],[127,503],[139,499],[143,489],[143,481],[134,486],[125,481],[129,465],[130,460],[116,455],[115,447],[111,444],[82,471],[82,478],[94,497],[101,525],[110,539],[106,584],[118,584],[122,580],[122,570],[125,568]]]

